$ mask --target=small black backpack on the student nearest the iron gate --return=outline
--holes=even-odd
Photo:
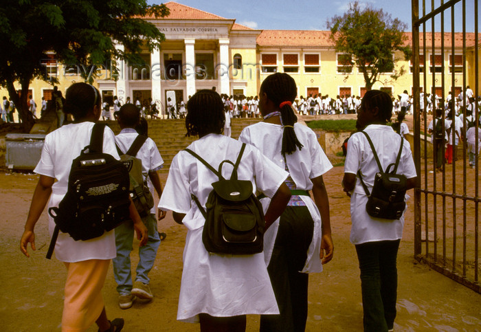
[[[376,159],[379,172],[374,175],[374,186],[372,192],[369,193],[368,187],[362,179],[361,170],[357,171],[357,176],[361,180],[362,187],[368,196],[368,203],[366,203],[366,212],[371,217],[383,219],[399,219],[403,216],[406,202],[404,201],[407,179],[405,175],[396,174],[399,159],[401,159],[401,152],[403,151],[404,139],[401,137],[401,146],[396,157],[396,162],[390,164],[385,171],[379,162],[374,145],[365,131],[361,131],[368,139],[369,145]],[[391,167],[394,167],[390,170]]]

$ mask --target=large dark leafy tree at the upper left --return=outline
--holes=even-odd
[[[45,68],[49,53],[54,52],[58,63],[84,68],[116,58],[139,63],[142,47],[152,51],[165,40],[164,34],[142,17],[168,13],[166,5],[148,5],[146,0],[3,0],[0,86],[8,89],[24,129],[30,130],[34,123],[27,111],[30,82],[34,78],[56,82]],[[115,43],[124,45],[124,50],[115,48]],[[115,71],[115,61],[113,65]],[[14,82],[21,85],[20,96]]]

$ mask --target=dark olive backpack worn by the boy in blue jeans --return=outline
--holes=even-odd
[[[120,161],[128,170],[128,177],[131,183],[128,190],[140,217],[146,217],[150,214],[150,209],[154,206],[154,198],[142,174],[142,160],[135,157],[146,140],[147,136],[137,135],[126,153],[123,153],[119,146],[115,144],[120,155]]]

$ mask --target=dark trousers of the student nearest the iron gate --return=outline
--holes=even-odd
[[[364,331],[384,332],[394,327],[399,242],[374,241],[356,245],[361,269]]]

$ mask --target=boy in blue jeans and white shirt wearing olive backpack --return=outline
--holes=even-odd
[[[118,285],[117,291],[121,309],[132,307],[136,297],[152,300],[153,294],[148,286],[150,281],[148,273],[154,265],[157,249],[160,245],[155,210],[154,212],[151,211],[153,208],[153,196],[147,185],[147,177],[152,182],[157,195],[161,197],[162,187],[157,170],[162,167],[164,160],[155,142],[144,135],[137,134],[137,131],[135,131],[135,127],[139,122],[140,113],[137,107],[133,104],[124,104],[120,107],[118,124],[121,131],[115,136],[115,143],[118,146],[120,158],[129,169],[131,188],[134,188],[131,197],[133,197],[137,211],[148,230],[148,241],[146,245],[139,248],[137,275],[135,276],[135,282],[132,283],[130,255],[134,234],[133,223],[132,221],[126,221],[118,228],[115,228],[117,257],[113,258],[113,273],[115,282]],[[139,165],[136,165],[136,162]],[[164,219],[165,216],[165,211],[159,211],[159,220]]]

